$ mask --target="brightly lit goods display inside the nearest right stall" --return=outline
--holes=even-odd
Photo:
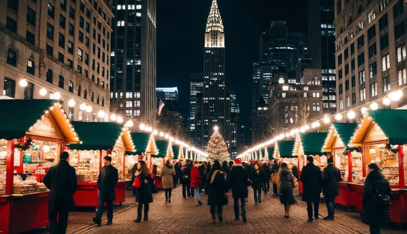
[[[399,171],[398,171],[398,154],[386,149],[385,144],[370,145],[365,147],[365,162],[377,163],[382,169],[382,174],[387,178],[390,185],[398,186]],[[366,169],[367,170],[367,169]],[[368,172],[366,171],[366,175]]]

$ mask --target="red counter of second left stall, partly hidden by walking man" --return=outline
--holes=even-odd
[[[126,197],[126,184],[130,180],[120,180],[114,186],[116,193],[116,200],[113,204],[122,204]],[[99,206],[98,199],[98,186],[97,182],[78,182],[77,190],[74,194],[75,206],[93,206],[97,208]]]

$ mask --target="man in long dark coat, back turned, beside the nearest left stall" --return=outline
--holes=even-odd
[[[68,152],[61,152],[58,164],[50,167],[44,176],[44,184],[50,190],[48,220],[51,234],[66,232],[68,210],[75,208],[73,195],[77,188],[77,181],[75,169],[69,165]]]

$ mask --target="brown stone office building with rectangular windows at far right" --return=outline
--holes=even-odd
[[[381,98],[406,86],[404,0],[335,0],[337,101],[338,112],[358,106],[398,108],[407,104],[407,95],[383,104]],[[359,122],[344,116],[342,121]]]

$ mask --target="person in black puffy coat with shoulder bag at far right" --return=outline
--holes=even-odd
[[[370,227],[371,234],[380,234],[380,226],[390,222],[390,211],[388,203],[377,202],[378,195],[389,197],[392,194],[390,184],[380,172],[379,165],[370,163],[367,166],[368,176],[363,187],[362,199],[362,222]]]

